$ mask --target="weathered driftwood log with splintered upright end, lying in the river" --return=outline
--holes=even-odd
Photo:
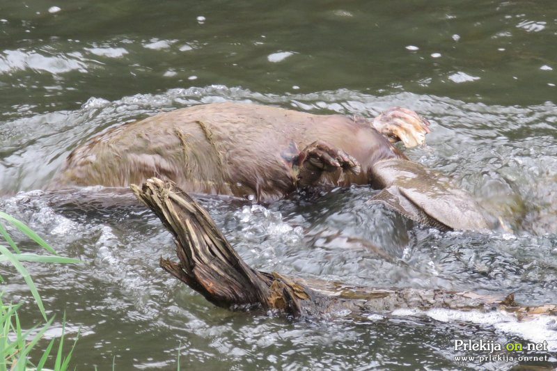
[[[389,313],[398,308],[503,310],[517,317],[557,315],[557,305],[521,306],[513,294],[487,297],[473,292],[354,287],[251,269],[230,246],[207,212],[173,182],[151,178],[132,191],[175,237],[179,262],[161,267],[216,306],[235,310],[278,309],[294,317],[346,313]]]

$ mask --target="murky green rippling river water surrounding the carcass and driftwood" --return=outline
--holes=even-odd
[[[150,213],[52,206],[29,191],[93,134],[161,110],[242,100],[373,116],[407,106],[433,129],[409,157],[455,177],[512,233],[413,226],[365,205],[365,187],[311,203],[203,204],[258,269],[557,302],[556,58],[552,0],[0,1],[0,187],[24,191],[0,198],[0,209],[84,261],[31,267],[50,313],[61,319],[65,310],[70,333],[81,327],[79,370],[106,370],[114,357],[118,370],[175,369],[179,347],[182,366],[196,370],[480,368],[455,362],[455,338],[547,340],[554,348],[542,365],[555,367],[554,319],[292,322],[214,308],[157,267],[173,246]],[[394,262],[346,237],[382,246]],[[7,269],[6,297],[29,300]],[[40,319],[31,303],[25,308],[27,322]],[[49,336],[59,332],[58,323]]]

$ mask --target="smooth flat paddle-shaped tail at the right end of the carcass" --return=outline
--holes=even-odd
[[[379,161],[372,175],[374,185],[384,189],[370,202],[383,203],[418,223],[453,230],[496,226],[469,194],[420,164],[402,159]]]

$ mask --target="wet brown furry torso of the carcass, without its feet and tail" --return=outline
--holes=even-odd
[[[370,184],[377,161],[406,159],[363,118],[216,103],[160,113],[93,137],[68,156],[49,188],[126,187],[157,176],[185,191],[273,200],[295,189],[296,156],[317,140],[352,155],[362,170],[345,173],[343,180],[340,172],[329,173],[323,184]]]

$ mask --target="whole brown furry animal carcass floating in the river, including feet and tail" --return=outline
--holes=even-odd
[[[127,187],[160,177],[189,192],[265,202],[299,187],[372,184],[384,189],[378,202],[416,221],[488,228],[469,196],[409,161],[375,128],[416,144],[426,124],[405,109],[367,120],[256,104],[191,106],[93,137],[68,156],[50,187]]]

